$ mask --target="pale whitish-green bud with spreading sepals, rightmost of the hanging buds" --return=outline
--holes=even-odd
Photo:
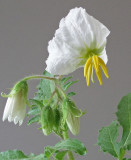
[[[80,119],[81,111],[77,109],[75,103],[66,98],[62,106],[63,119],[66,121],[68,128],[73,135],[77,135],[80,131]]]

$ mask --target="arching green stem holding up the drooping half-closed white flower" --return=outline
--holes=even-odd
[[[56,78],[53,77],[46,77],[43,75],[33,75],[33,76],[29,76],[29,77],[25,77],[23,80],[27,81],[27,80],[31,80],[31,79],[48,79],[48,80],[56,80]]]

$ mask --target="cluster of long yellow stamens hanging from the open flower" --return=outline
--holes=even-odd
[[[90,85],[90,79],[94,83],[93,80],[93,69],[96,72],[97,78],[99,80],[100,85],[102,85],[102,77],[101,77],[101,69],[103,70],[105,76],[109,78],[107,67],[104,63],[104,61],[98,57],[97,55],[94,55],[92,57],[89,57],[86,61],[85,67],[84,67],[84,77],[86,77],[87,86]]]

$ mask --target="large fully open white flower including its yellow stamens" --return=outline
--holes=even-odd
[[[108,78],[106,38],[110,31],[83,8],[71,9],[60,21],[59,29],[49,41],[46,70],[54,75],[66,75],[84,67],[87,85],[93,81],[93,68],[100,84],[101,70]],[[90,61],[89,61],[90,58]],[[92,72],[92,76],[91,76]]]

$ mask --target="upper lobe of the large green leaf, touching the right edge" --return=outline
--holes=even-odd
[[[120,125],[123,127],[120,144],[124,147],[131,145],[131,93],[121,99],[116,115]]]

